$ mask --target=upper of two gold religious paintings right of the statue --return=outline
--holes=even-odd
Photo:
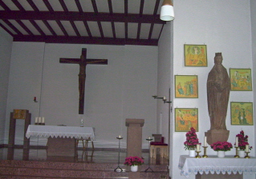
[[[230,69],[231,91],[252,91],[250,69]]]

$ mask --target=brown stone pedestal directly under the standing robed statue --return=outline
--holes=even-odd
[[[209,145],[212,145],[216,141],[228,141],[230,136],[230,130],[212,129],[205,132],[205,136],[207,137],[207,143]]]

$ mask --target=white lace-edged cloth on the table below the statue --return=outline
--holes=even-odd
[[[185,177],[189,177],[191,173],[254,174],[256,172],[256,157],[235,158],[234,156],[226,156],[219,158],[209,156],[207,158],[195,158],[189,157],[188,155],[181,155],[179,169],[181,169],[181,175]]]

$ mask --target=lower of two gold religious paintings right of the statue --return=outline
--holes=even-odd
[[[252,102],[230,102],[231,125],[254,125]]]

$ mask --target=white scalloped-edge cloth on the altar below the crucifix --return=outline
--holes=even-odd
[[[29,125],[26,130],[26,137],[75,137],[76,139],[95,140],[95,133],[92,127],[74,127],[58,125]]]

